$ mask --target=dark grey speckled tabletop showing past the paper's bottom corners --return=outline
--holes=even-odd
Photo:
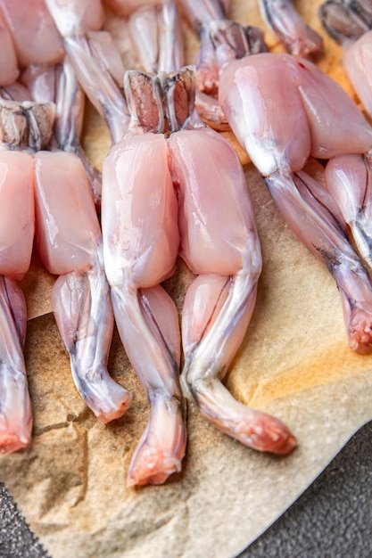
[[[0,482],[0,557],[47,556]],[[239,554],[239,558],[297,557],[372,558],[372,422],[361,428],[310,488]]]

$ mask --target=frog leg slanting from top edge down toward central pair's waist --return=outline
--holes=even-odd
[[[80,86],[95,109],[105,119],[112,135],[112,144],[120,141],[128,129],[129,114],[123,92],[124,68],[120,53],[107,31],[100,31],[101,18],[94,18],[96,3],[85,3],[85,18],[81,18],[78,0],[61,4],[45,0],[63,45],[76,72]],[[87,19],[89,12],[92,17]],[[89,21],[94,21],[90,23]],[[89,27],[90,25],[90,27]]]

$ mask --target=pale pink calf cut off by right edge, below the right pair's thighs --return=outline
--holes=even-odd
[[[363,155],[329,160],[326,185],[337,201],[361,257],[372,267],[372,193],[370,162]]]

